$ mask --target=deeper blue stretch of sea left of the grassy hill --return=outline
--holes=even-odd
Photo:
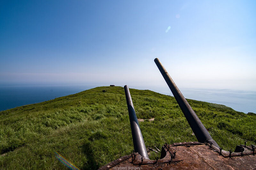
[[[0,86],[0,111],[94,88],[86,85]]]

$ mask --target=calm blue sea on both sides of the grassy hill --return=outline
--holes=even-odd
[[[97,85],[99,86],[99,85]],[[0,87],[0,111],[52,100],[88,90],[96,85],[59,85],[59,86],[2,86]],[[172,95],[167,86],[129,86],[141,90],[152,90],[166,95]],[[256,113],[256,91],[206,89],[206,88],[179,88],[187,99],[222,104],[236,111]]]

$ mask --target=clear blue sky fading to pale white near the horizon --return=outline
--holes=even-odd
[[[0,1],[0,85],[256,90],[256,1]]]

